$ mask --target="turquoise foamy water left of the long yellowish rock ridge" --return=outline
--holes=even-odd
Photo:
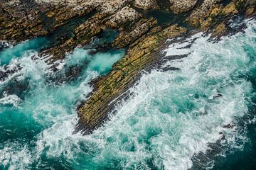
[[[109,72],[112,64],[123,55],[124,50],[89,55],[88,50],[76,49],[60,64],[63,64],[63,69],[82,65],[83,71],[76,81],[64,82],[60,86],[46,80],[53,74],[62,74],[62,70],[53,73],[50,70],[51,66],[44,60],[35,60],[37,52],[24,52],[18,58],[14,56],[10,67],[18,65],[21,69],[11,74],[6,81],[2,81],[0,88],[3,93],[0,99],[0,111],[3,116],[0,127],[0,151],[3,162],[1,167],[41,169],[40,162],[43,162],[44,155],[48,155],[47,160],[50,160],[50,153],[55,154],[54,157],[57,157],[57,151],[63,155],[65,146],[72,145],[64,144],[60,139],[65,140],[65,137],[73,136],[77,123],[76,104],[92,90],[88,83],[98,75]],[[99,61],[99,57],[107,62]],[[13,81],[26,81],[28,84],[23,100],[15,94],[7,94],[6,87],[11,87]],[[23,161],[23,157],[27,159]]]

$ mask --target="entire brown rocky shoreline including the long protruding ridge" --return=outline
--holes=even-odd
[[[194,31],[212,33],[213,38],[239,31],[229,25],[230,19],[255,16],[255,4],[255,0],[0,0],[0,40],[15,44],[50,38],[53,41],[39,56],[54,65],[106,29],[117,30],[117,38],[107,46],[127,48],[127,54],[109,74],[92,81],[93,93],[78,107],[78,130],[90,134],[107,120],[115,101],[123,98],[142,70],[159,62],[167,39]],[[145,17],[141,10],[169,11],[186,18],[182,23],[161,26],[154,15]],[[0,72],[1,79],[15,72],[8,70],[6,66],[6,72]]]

